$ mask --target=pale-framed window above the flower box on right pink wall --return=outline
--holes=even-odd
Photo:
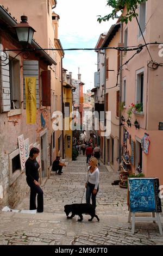
[[[136,72],[136,104],[142,104],[143,111],[144,72],[143,69]]]

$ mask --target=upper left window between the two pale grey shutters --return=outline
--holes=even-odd
[[[9,57],[11,109],[20,108],[20,62]]]

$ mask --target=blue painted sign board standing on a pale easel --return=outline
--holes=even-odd
[[[159,197],[158,178],[129,178],[129,218],[131,220],[131,231],[134,234],[135,212],[152,212],[152,217],[136,217],[139,221],[158,221],[160,234],[162,235],[161,221],[159,213],[161,211],[161,199]],[[155,217],[156,214],[156,217]]]

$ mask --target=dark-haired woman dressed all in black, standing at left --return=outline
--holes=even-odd
[[[37,148],[32,148],[29,153],[29,158],[26,161],[26,180],[30,187],[30,206],[29,210],[37,209],[37,212],[43,212],[43,191],[39,186],[39,163],[36,161],[36,157],[40,151]],[[36,207],[36,195],[37,195],[37,207]]]

